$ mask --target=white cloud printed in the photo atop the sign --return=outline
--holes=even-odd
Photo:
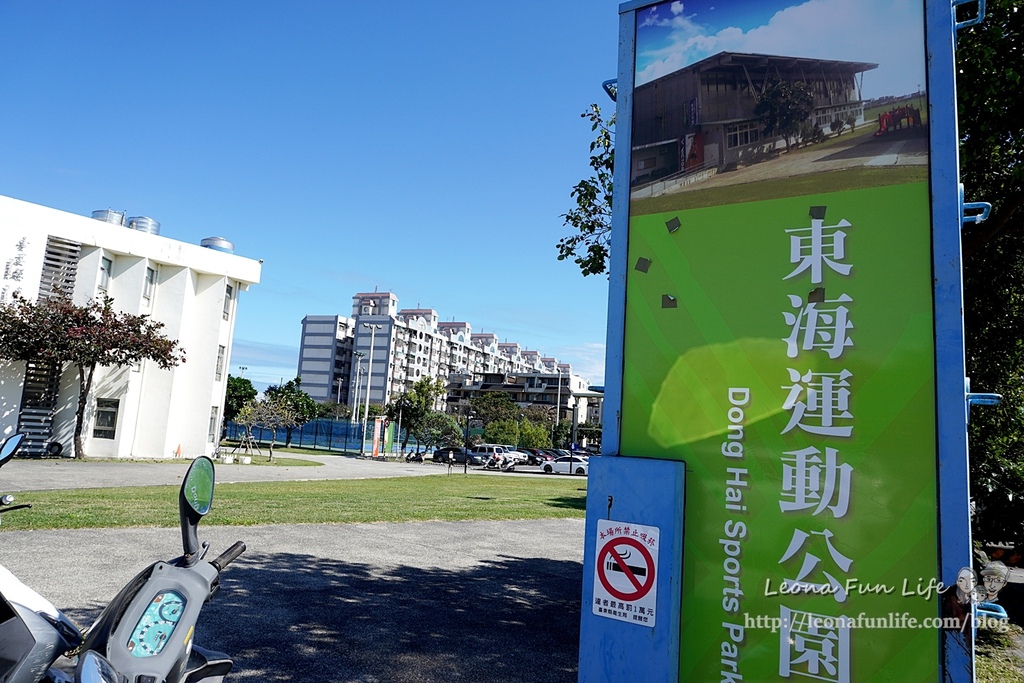
[[[925,82],[924,16],[918,0],[809,0],[775,13],[768,24],[714,35],[686,16],[672,19],[671,44],[653,58],[637,84],[718,52],[758,52],[819,59],[870,61],[864,96],[906,94]]]

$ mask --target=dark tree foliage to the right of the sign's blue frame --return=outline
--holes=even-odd
[[[989,0],[959,32],[956,89],[967,201],[991,202],[964,229],[967,371],[975,391],[1002,394],[971,409],[971,495],[979,541],[1024,541],[1024,12]]]

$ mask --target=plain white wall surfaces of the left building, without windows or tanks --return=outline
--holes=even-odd
[[[113,458],[168,457],[210,453],[211,409],[223,417],[228,358],[239,295],[259,282],[260,264],[198,245],[103,223],[86,216],[56,211],[0,197],[0,296],[14,291],[38,296],[43,256],[49,236],[83,245],[73,298],[95,298],[102,257],[114,267],[106,294],[114,307],[146,313],[164,324],[163,333],[176,339],[186,362],[172,370],[143,361],[137,368],[97,368],[86,407],[84,436],[89,456]],[[19,279],[10,276],[17,261]],[[155,294],[143,300],[146,268],[159,271]],[[5,275],[6,272],[6,276]],[[233,288],[228,319],[223,319],[226,286]],[[221,378],[215,377],[218,347],[224,347]],[[0,434],[16,428],[24,364],[0,365]],[[54,420],[53,437],[71,454],[78,373],[66,368]],[[92,436],[96,398],[120,401],[114,439]]]

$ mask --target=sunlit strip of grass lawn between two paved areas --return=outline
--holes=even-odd
[[[575,477],[398,477],[217,486],[206,524],[299,524],[584,516],[587,480]],[[31,510],[2,530],[177,526],[177,487],[23,492]]]

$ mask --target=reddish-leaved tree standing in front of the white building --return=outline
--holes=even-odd
[[[114,310],[103,296],[77,305],[67,296],[32,302],[14,295],[0,305],[0,358],[75,366],[78,407],[75,411],[75,457],[85,457],[82,431],[85,408],[97,366],[133,366],[152,360],[161,370],[185,361],[184,350],[165,337],[163,323],[148,315]]]

